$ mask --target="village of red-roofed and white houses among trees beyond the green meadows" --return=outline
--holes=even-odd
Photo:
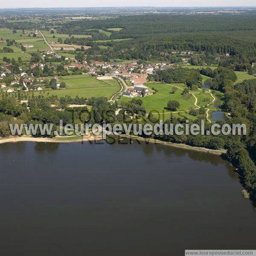
[[[24,47],[33,47],[33,45],[24,45]],[[186,52],[186,54],[192,54],[192,52]],[[0,91],[15,93],[18,91],[61,90],[65,89],[65,84],[61,84],[59,78],[79,74],[99,79],[101,76],[119,77],[127,85],[122,96],[144,97],[153,93],[150,88],[145,86],[148,75],[154,74],[156,70],[174,67],[173,64],[166,62],[143,65],[142,63],[138,64],[137,61],[118,63],[90,60],[87,63],[85,59],[68,58],[52,50],[41,52],[40,55],[40,62],[33,64],[25,61],[22,63],[17,63],[17,61],[2,62],[0,66],[0,80],[2,80],[0,81]],[[189,58],[183,59],[185,63],[188,61]],[[17,66],[18,64],[20,65]],[[15,72],[12,72],[14,68]],[[45,69],[47,69],[47,74],[44,72]],[[8,77],[9,79],[6,79]],[[51,79],[56,82],[54,86],[49,87],[48,84]]]

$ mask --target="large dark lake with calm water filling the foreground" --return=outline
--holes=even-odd
[[[0,145],[0,166],[1,256],[256,248],[256,213],[217,156],[136,141],[23,142]]]

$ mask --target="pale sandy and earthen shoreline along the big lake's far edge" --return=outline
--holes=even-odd
[[[41,143],[75,143],[75,142],[85,142],[85,141],[95,141],[95,140],[102,140],[102,137],[96,137],[94,135],[84,135],[83,138],[80,136],[79,138],[77,138],[77,136],[73,136],[76,137],[74,138],[74,140],[70,139],[70,140],[64,140],[65,138],[68,137],[55,137],[55,138],[42,138],[42,137],[8,137],[8,138],[2,138],[0,139],[0,144],[3,143],[18,143],[18,142],[41,142]],[[200,147],[193,147],[193,146],[189,146],[186,144],[178,144],[178,143],[172,143],[172,142],[166,142],[166,141],[161,141],[161,140],[156,140],[156,139],[145,139],[142,137],[138,137],[138,136],[134,136],[134,135],[125,135],[122,134],[121,137],[125,137],[125,138],[132,138],[134,140],[139,140],[139,141],[144,141],[146,143],[153,143],[153,144],[158,144],[158,145],[166,145],[166,146],[170,146],[170,147],[174,147],[174,148],[182,148],[182,149],[186,149],[186,150],[192,150],[192,151],[198,151],[198,152],[204,152],[207,154],[214,154],[214,155],[221,155],[221,154],[225,154],[226,150],[216,150],[216,149],[209,149],[209,148],[200,148]],[[58,140],[58,138],[61,138],[63,140]]]

